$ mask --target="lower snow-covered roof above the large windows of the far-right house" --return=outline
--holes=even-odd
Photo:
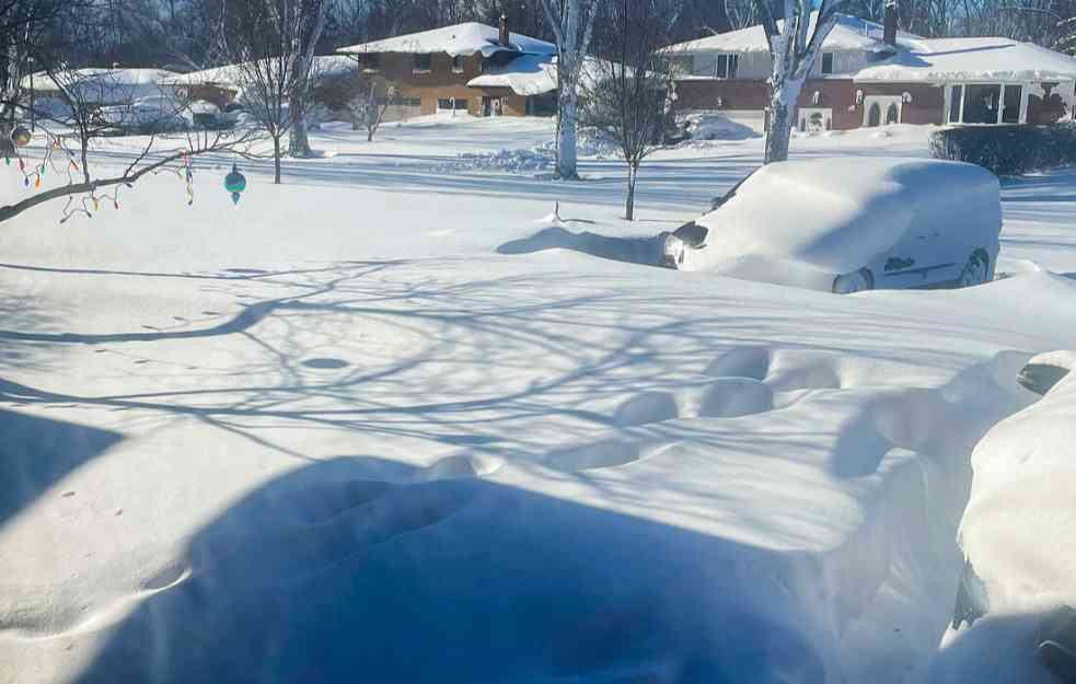
[[[1076,78],[1076,58],[1008,38],[918,39],[856,81],[1039,81]]]

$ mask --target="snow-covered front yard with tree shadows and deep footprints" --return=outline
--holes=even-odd
[[[888,132],[792,152],[926,154]],[[0,682],[936,674],[971,452],[1073,346],[1076,172],[1003,182],[1010,277],[842,298],[498,254],[555,201],[671,230],[762,155],[657,154],[634,223],[615,159],[475,162],[552,136],[328,127],[238,207],[199,160],[192,207],[162,174],[0,225]],[[1000,676],[962,642],[947,677]]]

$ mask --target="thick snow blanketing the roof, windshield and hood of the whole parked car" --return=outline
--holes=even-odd
[[[768,164],[696,221],[710,233],[689,268],[736,269],[749,256],[753,264],[787,259],[811,271],[848,273],[905,235],[934,234],[936,227],[965,233],[972,244],[996,245],[997,188],[990,172],[952,162],[841,158]],[[961,201],[953,202],[954,196]],[[780,281],[779,273],[773,277]]]

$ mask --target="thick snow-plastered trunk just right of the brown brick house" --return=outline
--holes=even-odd
[[[601,0],[590,0],[582,16],[582,0],[541,0],[549,30],[557,45],[557,176],[579,177],[576,153],[576,111],[579,104],[579,77],[582,72],[594,31],[594,18]]]

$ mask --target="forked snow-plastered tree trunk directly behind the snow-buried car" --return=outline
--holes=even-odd
[[[890,0],[895,2],[896,0]],[[788,159],[796,100],[814,66],[830,31],[837,22],[842,0],[821,0],[812,18],[813,0],[783,0],[784,19],[778,21],[767,0],[756,0],[762,27],[770,45],[770,127],[766,129],[764,163]],[[812,21],[813,19],[813,21]]]

